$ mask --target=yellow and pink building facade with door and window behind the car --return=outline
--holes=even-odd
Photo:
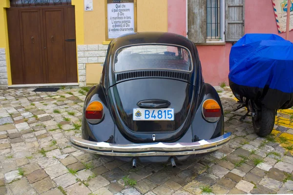
[[[132,31],[191,39],[212,85],[244,34],[285,37],[272,0],[0,0],[0,87],[96,84],[110,40]]]

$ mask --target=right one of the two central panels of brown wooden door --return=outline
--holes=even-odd
[[[47,82],[66,82],[63,8],[44,9],[43,24]]]

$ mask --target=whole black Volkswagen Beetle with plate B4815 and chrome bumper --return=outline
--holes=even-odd
[[[167,162],[205,156],[227,145],[223,108],[204,82],[196,46],[163,32],[110,42],[100,83],[84,101],[82,151],[115,159]]]

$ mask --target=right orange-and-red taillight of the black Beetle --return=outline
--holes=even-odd
[[[221,107],[220,105],[213,99],[207,99],[203,103],[203,117],[209,122],[216,122],[221,117]]]

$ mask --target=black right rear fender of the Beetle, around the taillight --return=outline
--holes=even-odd
[[[202,106],[207,99],[214,99],[221,107],[222,115],[217,122],[208,122],[202,115]],[[194,141],[196,141],[196,139],[211,139],[224,134],[224,113],[221,100],[215,88],[208,83],[202,85],[197,111],[194,115],[191,127]]]

